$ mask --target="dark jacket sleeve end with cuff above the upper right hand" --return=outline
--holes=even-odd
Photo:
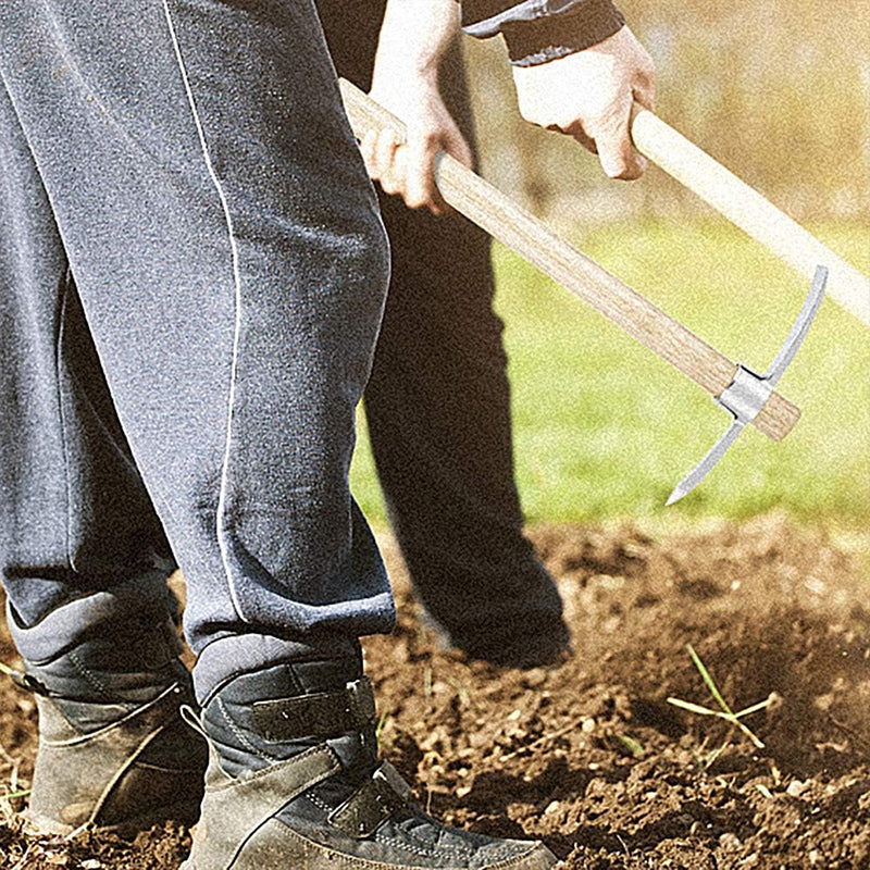
[[[532,66],[607,39],[625,18],[612,0],[460,0],[462,29],[485,39],[501,34],[511,63]]]

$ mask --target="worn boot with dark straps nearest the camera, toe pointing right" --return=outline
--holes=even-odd
[[[540,843],[495,840],[426,816],[378,763],[359,661],[284,663],[207,701],[202,816],[182,870],[546,870]]]

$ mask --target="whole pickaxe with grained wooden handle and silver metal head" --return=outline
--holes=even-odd
[[[341,79],[339,84],[345,108],[359,139],[370,129],[385,127],[393,128],[400,139],[403,138],[405,126],[395,115],[346,79]],[[645,115],[651,113],[637,113],[635,128],[639,122],[645,132],[651,129],[648,135],[655,141],[655,125],[649,124],[648,119],[642,121]],[[661,123],[655,115],[651,117],[658,124]],[[650,157],[657,160],[655,156]],[[668,504],[682,498],[700,482],[747,423],[751,423],[774,442],[781,440],[792,431],[800,411],[775,393],[773,386],[797,351],[821,302],[825,270],[817,271],[810,296],[783,349],[768,373],[759,376],[732,362],[627,284],[581,253],[500,190],[444,152],[436,159],[436,181],[445,201],[458,212],[670,362],[731,411],[734,423],[716,447],[676,486]],[[831,257],[834,254],[831,253]]]

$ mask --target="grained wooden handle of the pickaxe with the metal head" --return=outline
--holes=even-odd
[[[345,108],[355,135],[403,124],[366,94],[340,80]],[[566,289],[595,308],[629,335],[646,345],[710,395],[719,396],[737,372],[737,364],[710,347],[660,308],[611,275],[449,154],[437,162],[438,190],[450,206],[512,248]],[[773,393],[753,424],[773,440],[784,438],[800,417],[787,399]]]

